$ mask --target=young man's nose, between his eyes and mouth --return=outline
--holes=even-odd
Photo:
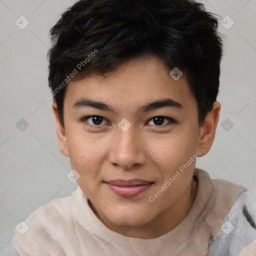
[[[131,127],[126,131],[118,128],[113,137],[108,160],[123,169],[130,169],[133,165],[146,162],[145,148],[146,146]]]

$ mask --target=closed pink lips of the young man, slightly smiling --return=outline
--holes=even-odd
[[[130,179],[130,180],[109,180],[104,183],[115,194],[123,197],[136,196],[146,189],[148,189],[154,182],[142,180],[142,179]]]

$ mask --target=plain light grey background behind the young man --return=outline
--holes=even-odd
[[[71,166],[59,151],[46,98],[48,31],[73,2],[0,0],[0,255],[14,255],[11,239],[21,220],[77,186],[66,177]],[[211,150],[198,158],[196,167],[212,178],[255,188],[256,0],[202,2],[234,24],[229,29],[219,24],[226,36],[217,98],[222,107]],[[29,21],[24,29],[15,24],[21,15]],[[21,118],[28,123],[23,131],[16,126]]]

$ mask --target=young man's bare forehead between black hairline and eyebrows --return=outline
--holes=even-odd
[[[72,107],[82,97],[101,101],[113,108],[138,108],[150,101],[170,98],[183,109],[196,105],[186,74],[173,79],[157,58],[136,58],[126,61],[106,76],[94,75],[69,82],[64,105]]]

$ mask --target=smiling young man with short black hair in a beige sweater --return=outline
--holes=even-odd
[[[51,38],[57,138],[79,186],[15,230],[17,253],[256,255],[256,193],[195,167],[220,111],[222,40],[203,4],[80,0]]]

